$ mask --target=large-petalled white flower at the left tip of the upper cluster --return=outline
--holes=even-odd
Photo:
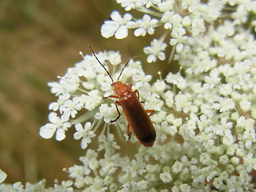
[[[102,25],[102,36],[110,38],[114,35],[115,38],[122,39],[128,35],[128,22],[132,19],[131,14],[125,14],[122,18],[118,11],[113,11],[110,15],[112,21],[105,21]]]

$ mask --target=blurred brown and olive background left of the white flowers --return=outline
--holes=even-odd
[[[8,174],[6,182],[46,178],[51,186],[55,178],[68,179],[64,167],[80,164],[85,151],[72,134],[62,142],[38,135],[48,122],[48,105],[56,100],[47,82],[58,81],[58,75],[81,61],[79,51],[91,54],[89,45],[95,52],[119,50],[123,62],[142,54],[150,40],[132,32],[122,44],[102,38],[100,28],[112,10],[124,13],[114,0],[1,0],[0,168]],[[164,66],[143,67],[158,78]]]

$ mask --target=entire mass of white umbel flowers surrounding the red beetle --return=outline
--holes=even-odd
[[[145,15],[136,19],[114,11],[112,20],[102,26],[103,37],[126,38],[129,29],[135,29],[135,36],[152,35],[162,26],[162,37],[144,47],[148,62],[166,59],[166,47],[173,46],[181,68],[151,85],[151,76],[144,74],[138,61],[131,60],[122,73],[120,81],[139,91],[146,110],[155,110],[150,116],[157,134],[154,146],[134,147],[133,157],[124,154],[111,130],[127,137],[122,112],[110,126],[118,116],[116,99],[104,97],[115,93],[94,56],[84,56],[59,82],[49,83],[58,101],[50,104],[50,123],[41,127],[40,135],[51,138],[55,133],[62,140],[74,126],[74,138],[82,138],[83,149],[91,138],[98,142],[96,150],[88,149],[80,158],[82,165],[67,170],[74,186],[83,191],[253,191],[256,20],[250,21],[254,18],[250,15],[256,14],[256,2],[117,2],[126,11]],[[124,66],[120,54],[109,51],[97,56],[116,80]],[[138,141],[132,135],[127,142]],[[63,187],[71,189],[71,184],[68,181]]]

